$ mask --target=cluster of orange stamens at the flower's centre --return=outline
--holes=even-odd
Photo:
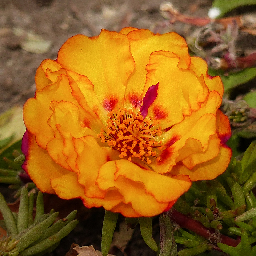
[[[118,109],[108,114],[107,131],[101,129],[97,138],[101,138],[102,143],[108,143],[113,150],[120,152],[119,157],[127,157],[131,161],[132,157],[137,157],[150,164],[149,157],[156,157],[156,150],[162,149],[161,141],[156,141],[155,137],[162,134],[161,128],[154,129],[151,120],[143,119],[132,109]]]

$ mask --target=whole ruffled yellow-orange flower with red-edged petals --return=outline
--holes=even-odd
[[[176,33],[76,35],[36,72],[24,105],[24,170],[43,192],[127,217],[172,207],[226,169],[220,77]]]

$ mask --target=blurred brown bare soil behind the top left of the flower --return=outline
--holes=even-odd
[[[154,31],[166,21],[159,13],[163,0],[0,0],[0,113],[33,97],[34,76],[41,61],[55,59],[61,45],[71,36],[95,36],[102,28],[120,31],[133,26]],[[174,0],[181,13],[206,16],[211,0]],[[182,36],[190,25],[176,23],[168,28]],[[24,49],[28,34],[51,44],[42,54]],[[39,40],[40,41],[40,40]],[[43,44],[44,46],[44,44]],[[40,46],[39,46],[40,48]],[[30,52],[29,52],[30,51]]]

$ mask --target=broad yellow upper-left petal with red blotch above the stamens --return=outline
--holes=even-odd
[[[57,62],[86,75],[102,106],[111,111],[123,104],[127,79],[134,69],[127,36],[102,30],[99,36],[71,37],[63,44]]]

